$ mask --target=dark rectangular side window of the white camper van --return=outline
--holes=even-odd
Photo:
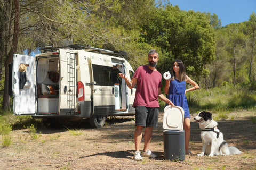
[[[94,82],[101,86],[114,86],[112,82],[112,67],[102,65],[92,65]]]

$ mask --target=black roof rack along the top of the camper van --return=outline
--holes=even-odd
[[[52,45],[50,46],[45,46],[44,48],[42,48],[43,53],[46,52],[53,52],[55,50],[58,49],[70,49],[70,50],[74,50],[74,49],[78,49],[78,50],[86,50],[87,52],[93,52],[93,53],[100,53],[100,54],[105,54],[105,55],[111,55],[111,56],[115,56],[115,57],[122,57],[127,59],[127,52],[124,51],[110,51],[110,50],[106,50],[106,49],[101,49],[101,48],[95,48],[95,47],[91,47],[91,45],[79,45],[79,44],[71,44],[69,46],[64,46],[64,47],[53,47]]]

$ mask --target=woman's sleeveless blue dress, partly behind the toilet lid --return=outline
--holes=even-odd
[[[174,79],[170,81],[168,99],[172,101],[175,106],[180,106],[184,110],[184,118],[190,118],[188,102],[185,96],[186,81],[179,81]]]

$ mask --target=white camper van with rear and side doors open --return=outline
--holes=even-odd
[[[14,115],[89,119],[99,128],[106,116],[134,114],[135,88],[118,76],[131,79],[134,73],[123,54],[82,45],[45,48],[35,57],[14,54]]]

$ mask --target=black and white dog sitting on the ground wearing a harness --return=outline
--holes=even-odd
[[[202,129],[201,139],[203,148],[201,154],[197,154],[198,156],[209,154],[210,157],[213,157],[214,155],[242,153],[236,147],[228,147],[228,143],[223,140],[223,133],[217,128],[218,123],[212,119],[212,114],[210,112],[199,112],[199,114],[194,117],[194,120],[199,123],[199,128]]]

